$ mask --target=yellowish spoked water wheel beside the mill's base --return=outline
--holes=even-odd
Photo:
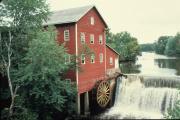
[[[106,107],[110,100],[110,84],[107,81],[103,81],[97,88],[97,103],[100,107]]]

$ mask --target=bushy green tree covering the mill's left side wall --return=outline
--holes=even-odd
[[[68,112],[75,108],[76,87],[61,76],[75,62],[65,64],[68,54],[63,45],[57,44],[54,31],[51,28],[37,33],[29,43],[24,64],[16,75],[23,95],[30,103],[28,107],[41,119],[47,119],[57,111]]]

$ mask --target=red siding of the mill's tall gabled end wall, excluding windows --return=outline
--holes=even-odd
[[[94,25],[91,25],[90,18],[94,17]],[[98,80],[105,77],[105,25],[95,9],[91,9],[85,16],[77,22],[77,43],[78,54],[82,49],[80,40],[80,33],[85,33],[85,43],[95,53],[95,63],[90,62],[90,56],[86,56],[86,63],[81,64],[81,71],[79,72],[78,91],[83,93],[93,88]],[[94,44],[90,44],[90,34],[94,34]],[[99,35],[103,36],[103,44],[99,44]],[[103,62],[100,63],[99,54],[103,53]]]

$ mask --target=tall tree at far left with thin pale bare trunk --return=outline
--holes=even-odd
[[[8,79],[11,105],[9,117],[13,115],[19,85],[14,70],[24,58],[28,42],[36,36],[42,22],[49,14],[45,0],[3,0],[0,3],[0,74]]]

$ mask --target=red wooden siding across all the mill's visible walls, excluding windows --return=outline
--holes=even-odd
[[[94,25],[91,25],[91,17],[94,17]],[[65,43],[68,53],[72,55],[76,55],[76,53],[78,54],[80,70],[69,71],[66,75],[67,78],[76,80],[79,94],[90,91],[97,81],[104,80],[106,78],[107,69],[115,68],[115,59],[118,58],[117,53],[106,46],[105,29],[107,26],[105,22],[102,20],[95,7],[93,7],[78,22],[56,25],[56,27],[58,31],[58,42],[60,44]],[[69,30],[69,41],[64,41],[64,30]],[[85,64],[81,64],[80,58],[82,48],[84,46],[80,39],[81,33],[85,34],[85,44],[95,55],[95,63],[91,63],[91,56],[86,55]],[[94,35],[94,44],[90,43],[91,34]],[[102,44],[99,43],[100,35],[102,35]],[[100,63],[100,53],[103,54],[102,63]],[[113,65],[110,65],[109,63],[109,58],[111,56],[113,58]]]

